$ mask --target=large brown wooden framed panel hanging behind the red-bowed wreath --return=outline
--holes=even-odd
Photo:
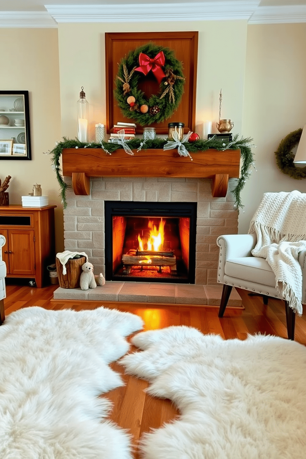
[[[182,63],[184,75],[184,93],[177,109],[169,118],[152,123],[150,127],[155,128],[157,134],[167,134],[168,123],[180,122],[185,124],[185,133],[195,130],[198,32],[123,32],[105,34],[107,133],[117,122],[133,123],[133,118],[122,114],[114,95],[118,66],[131,51],[149,43],[172,50],[175,59]],[[139,78],[138,89],[143,91],[147,99],[151,95],[159,96],[161,91],[160,82],[153,72],[149,72],[146,78]],[[143,127],[136,123],[136,134],[142,134]]]

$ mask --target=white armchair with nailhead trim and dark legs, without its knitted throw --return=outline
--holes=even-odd
[[[217,281],[224,284],[219,308],[223,317],[233,287],[249,290],[263,296],[264,304],[268,297],[279,298],[285,302],[288,339],[294,340],[295,312],[275,288],[275,275],[264,258],[253,257],[251,250],[256,246],[256,234],[222,235],[217,238],[220,247]],[[306,251],[300,252],[299,263],[302,269],[302,303],[306,303]]]

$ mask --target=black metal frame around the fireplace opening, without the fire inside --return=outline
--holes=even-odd
[[[136,213],[136,215],[135,215]],[[189,273],[188,278],[169,280],[157,278],[136,278],[114,276],[112,272],[112,217],[148,216],[189,217]],[[105,278],[127,282],[167,282],[176,284],[195,284],[195,239],[197,202],[143,202],[143,201],[105,201]]]

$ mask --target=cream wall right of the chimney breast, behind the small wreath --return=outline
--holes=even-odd
[[[306,192],[306,180],[283,174],[274,154],[287,134],[306,124],[305,48],[305,23],[248,26],[242,132],[254,139],[257,173],[242,193],[241,234],[264,192]]]

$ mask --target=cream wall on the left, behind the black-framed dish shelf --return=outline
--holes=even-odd
[[[63,250],[63,211],[60,188],[51,168],[50,156],[43,154],[61,139],[60,86],[57,30],[1,29],[1,90],[28,90],[30,105],[31,161],[0,159],[0,178],[11,175],[10,204],[21,204],[21,196],[41,184],[49,203],[56,208],[56,251]]]

